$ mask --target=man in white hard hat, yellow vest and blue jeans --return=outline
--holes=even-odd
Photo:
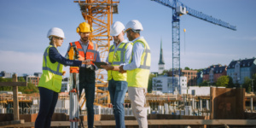
[[[125,38],[125,26],[116,21],[110,26],[113,45],[109,47],[108,65],[102,65],[108,71],[108,91],[113,105],[116,128],[125,128],[124,101],[127,87],[127,74],[119,73],[119,66],[128,64],[131,59],[132,44]]]

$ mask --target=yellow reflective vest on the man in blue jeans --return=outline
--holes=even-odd
[[[116,52],[114,52],[114,46],[111,45],[109,48],[108,53],[108,62],[112,66],[119,66],[121,63],[125,62],[125,51],[132,43],[120,43],[119,47],[117,48]],[[126,81],[127,74],[126,73],[119,73],[119,71],[108,70],[108,80],[115,80],[115,81]]]

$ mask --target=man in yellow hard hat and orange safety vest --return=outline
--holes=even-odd
[[[70,48],[76,46],[79,50],[79,55],[86,58],[86,60],[90,59],[92,61],[100,62],[101,60],[100,54],[97,51],[97,44],[91,43],[88,39],[90,33],[93,32],[92,27],[88,23],[82,22],[77,27],[77,32],[79,33],[80,39],[79,41],[69,44],[66,57],[69,58],[68,52]],[[90,61],[90,64],[79,67],[79,96],[81,96],[82,90],[84,89],[88,128],[92,128],[94,122],[93,102],[95,99],[95,71],[98,69],[92,61]]]

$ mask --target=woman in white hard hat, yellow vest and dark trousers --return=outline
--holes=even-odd
[[[47,34],[49,46],[44,50],[43,74],[39,80],[38,89],[40,93],[40,107],[35,122],[36,128],[49,128],[52,114],[55,112],[55,105],[58,101],[58,93],[61,91],[63,65],[79,67],[82,63],[90,61],[71,61],[63,57],[57,47],[63,43],[64,32],[57,27],[49,29]],[[80,58],[84,60],[84,58]]]

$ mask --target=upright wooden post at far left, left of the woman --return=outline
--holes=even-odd
[[[13,82],[18,82],[17,74],[13,74]],[[13,86],[14,97],[14,119],[19,120],[19,100],[18,100],[18,86]]]

